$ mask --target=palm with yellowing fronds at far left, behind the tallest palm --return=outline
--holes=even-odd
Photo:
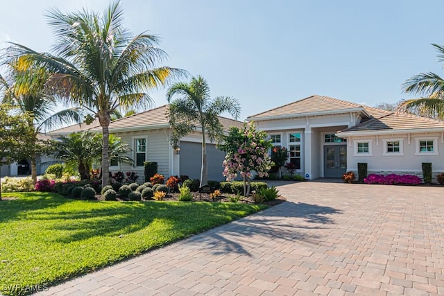
[[[54,96],[48,96],[44,84],[49,74],[44,69],[22,69],[21,59],[15,60],[8,67],[8,76],[0,76],[3,96],[1,103],[12,106],[15,114],[28,114],[28,125],[33,127],[33,137],[22,147],[24,155],[31,159],[31,177],[37,182],[37,156],[43,153],[44,145],[37,139],[40,132],[56,128],[60,125],[80,121],[80,114],[75,107],[58,112],[58,104]]]

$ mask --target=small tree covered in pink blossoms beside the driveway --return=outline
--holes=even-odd
[[[266,140],[266,132],[257,131],[255,123],[244,123],[244,128],[231,128],[228,136],[224,137],[219,149],[227,153],[223,161],[223,175],[227,181],[233,180],[240,173],[244,179],[244,195],[250,195],[250,179],[252,171],[259,177],[268,175],[273,162],[268,155],[272,147],[271,141]]]

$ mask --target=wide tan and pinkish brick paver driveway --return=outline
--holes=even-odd
[[[289,202],[42,295],[444,294],[444,188],[279,189]]]

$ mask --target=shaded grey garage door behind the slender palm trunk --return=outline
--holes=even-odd
[[[223,159],[225,153],[214,144],[207,143],[208,180],[222,181]],[[180,175],[188,175],[191,179],[200,179],[202,166],[202,144],[180,141]]]

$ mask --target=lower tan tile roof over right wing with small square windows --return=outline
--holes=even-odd
[[[341,130],[343,132],[371,132],[373,130],[430,130],[434,128],[444,129],[444,121],[427,119],[402,112],[390,112],[386,116],[370,119],[351,128]]]

